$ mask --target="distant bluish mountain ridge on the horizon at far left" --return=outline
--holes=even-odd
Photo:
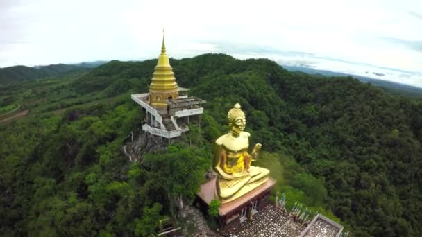
[[[78,64],[51,64],[35,67],[4,67],[0,68],[0,85],[35,80],[49,76],[58,76],[69,72],[87,71],[104,63],[106,63],[106,61],[81,62]]]

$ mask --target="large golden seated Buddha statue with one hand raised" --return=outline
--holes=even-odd
[[[215,141],[214,170],[217,177],[217,197],[221,203],[235,200],[267,182],[269,170],[251,166],[261,150],[257,143],[248,153],[249,134],[244,132],[245,113],[239,103],[227,114],[230,132]]]

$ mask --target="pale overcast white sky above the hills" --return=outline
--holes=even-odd
[[[422,87],[422,1],[0,0],[0,67],[227,53]],[[376,76],[377,73],[382,76]]]

